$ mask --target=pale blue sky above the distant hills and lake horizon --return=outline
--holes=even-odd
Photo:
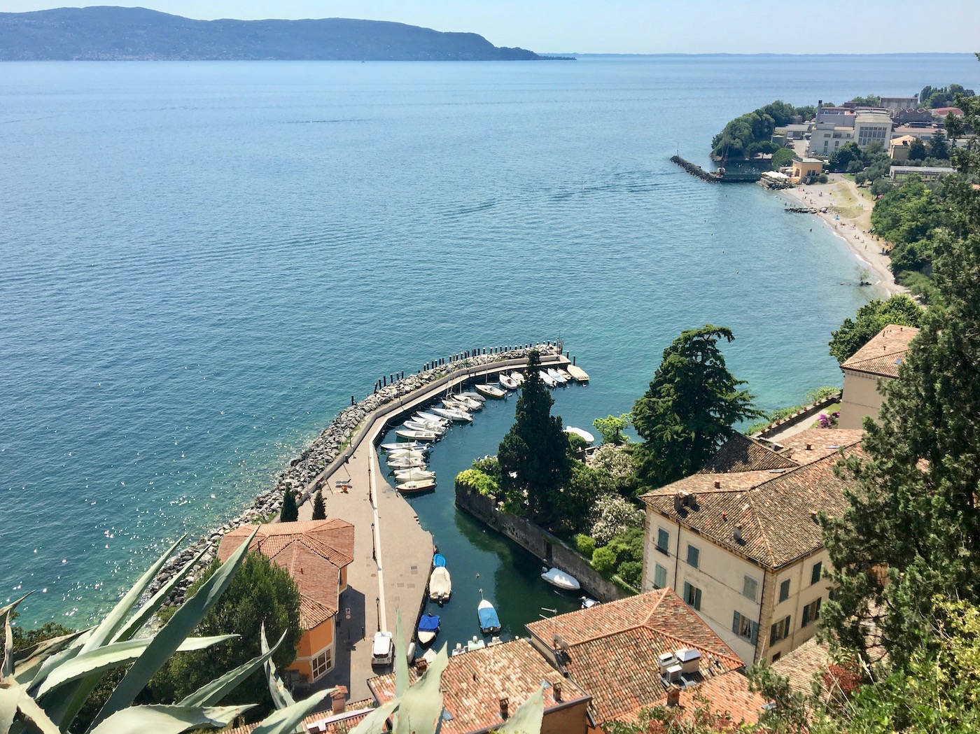
[[[967,53],[980,0],[143,0],[103,3],[213,20],[359,18],[479,33],[543,53]],[[0,11],[65,7],[0,0]],[[75,4],[73,7],[80,7]]]

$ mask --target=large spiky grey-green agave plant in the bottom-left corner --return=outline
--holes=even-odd
[[[237,637],[189,635],[227,588],[248,552],[251,537],[202,585],[196,595],[173,613],[159,631],[137,636],[204,554],[202,551],[186,563],[155,595],[137,607],[182,540],[174,543],[123,596],[115,609],[90,629],[46,640],[15,653],[11,614],[26,596],[0,609],[0,622],[6,632],[3,662],[0,664],[0,734],[69,734],[75,731],[72,728],[75,718],[92,691],[107,672],[120,667],[128,667],[128,670],[87,728],[87,734],[179,734],[188,729],[221,728],[253,708],[221,707],[217,704],[235,686],[269,661],[275,648],[281,644],[281,638],[272,649],[264,645],[264,652],[259,657],[229,670],[172,706],[136,706],[133,703],[173,653],[203,650]],[[332,689],[320,691],[299,703],[294,703],[291,698],[288,701],[276,700],[277,705],[283,705],[282,708],[263,720],[256,734],[289,734],[295,731],[303,718],[331,692]],[[80,734],[81,730],[77,731]]]

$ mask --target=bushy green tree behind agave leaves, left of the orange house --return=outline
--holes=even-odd
[[[216,560],[188,590],[193,596],[218,568]],[[239,633],[232,642],[209,650],[178,653],[150,682],[155,701],[176,702],[233,667],[260,655],[259,629],[266,625],[270,644],[283,632],[286,639],[272,656],[281,672],[296,659],[303,636],[300,626],[300,592],[289,571],[261,553],[249,553],[227,590],[201,620],[195,634],[201,636]],[[224,699],[224,703],[266,702],[271,705],[269,685],[262,669],[256,671]]]

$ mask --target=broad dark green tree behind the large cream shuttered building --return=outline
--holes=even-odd
[[[663,350],[650,389],[636,401],[633,427],[641,480],[662,486],[697,471],[740,420],[760,417],[753,396],[725,367],[718,340],[735,337],[710,323],[684,331]]]

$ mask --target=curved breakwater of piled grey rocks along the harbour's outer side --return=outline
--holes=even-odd
[[[531,350],[537,350],[541,355],[561,356],[562,344],[561,342],[555,344],[547,342],[521,347],[472,350],[435,361],[431,367],[426,366],[425,369],[416,374],[395,379],[390,383],[387,378],[378,380],[375,383],[374,392],[361,402],[354,403],[341,411],[303,453],[279,473],[271,489],[256,497],[244,512],[227,520],[221,527],[217,527],[203,537],[196,539],[180,553],[172,556],[151,584],[150,593],[155,594],[163,588],[174,574],[178,573],[184,565],[190,563],[203,551],[204,555],[196,567],[192,568],[187,576],[180,580],[164,603],[165,606],[182,604],[187,589],[194,583],[197,574],[202,569],[207,568],[217,557],[218,547],[221,545],[221,538],[224,534],[239,525],[270,521],[282,508],[282,495],[286,489],[298,493],[301,502],[307,500],[311,492],[316,491],[314,487],[317,478],[322,474],[324,468],[341,457],[357,430],[362,427],[365,419],[374,411],[399,401],[443,377],[451,376],[455,372],[472,367],[492,366],[495,362],[526,359]]]

